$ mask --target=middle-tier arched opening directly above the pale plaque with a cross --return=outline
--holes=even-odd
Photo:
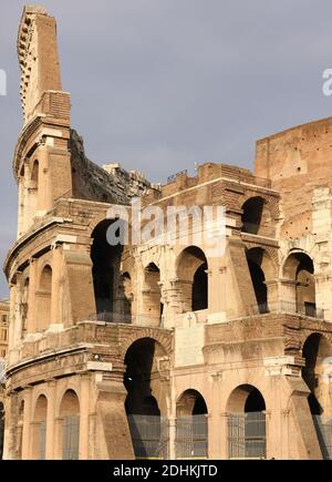
[[[178,284],[181,291],[183,312],[208,308],[208,263],[204,252],[189,246],[177,260]]]

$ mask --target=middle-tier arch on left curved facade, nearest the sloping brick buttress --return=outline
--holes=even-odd
[[[38,331],[44,331],[45,329],[48,329],[48,327],[51,324],[52,268],[50,265],[44,266],[41,273],[37,298],[38,298],[37,327],[38,327]]]

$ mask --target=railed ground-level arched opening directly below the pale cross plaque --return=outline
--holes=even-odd
[[[203,396],[186,390],[176,404],[176,458],[208,458],[208,410]]]

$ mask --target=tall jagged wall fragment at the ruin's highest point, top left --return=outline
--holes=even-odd
[[[46,91],[61,91],[56,22],[43,7],[25,6],[18,34],[21,69],[21,102],[24,122],[43,113]]]

